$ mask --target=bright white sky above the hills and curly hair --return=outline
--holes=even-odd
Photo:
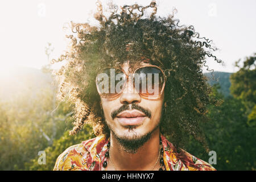
[[[102,0],[103,5],[108,1]],[[149,5],[151,0],[113,1],[121,5]],[[255,0],[159,0],[158,16],[168,16],[174,7],[180,24],[193,25],[200,36],[213,40],[215,55],[221,65],[209,59],[214,71],[236,72],[234,62],[256,52]],[[104,6],[106,8],[106,6]],[[45,47],[54,47],[51,58],[57,58],[67,46],[64,24],[95,23],[96,1],[82,0],[1,0],[0,1],[0,71],[8,67],[40,69],[48,64]]]

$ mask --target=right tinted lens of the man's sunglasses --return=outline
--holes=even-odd
[[[143,67],[134,73],[134,87],[144,96],[158,96],[163,89],[164,75],[156,67]]]

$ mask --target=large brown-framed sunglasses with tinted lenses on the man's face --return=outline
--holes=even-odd
[[[96,86],[104,98],[118,97],[124,92],[137,92],[143,98],[154,100],[163,93],[166,80],[163,69],[156,65],[144,65],[129,75],[123,69],[105,68],[97,74]]]

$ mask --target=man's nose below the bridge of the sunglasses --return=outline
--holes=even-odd
[[[141,102],[141,96],[134,88],[133,82],[127,81],[127,84],[121,94],[120,102],[121,104],[133,104]]]

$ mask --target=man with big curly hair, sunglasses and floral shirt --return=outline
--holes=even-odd
[[[60,96],[75,103],[70,134],[89,123],[97,137],[67,148],[54,170],[215,170],[181,149],[189,135],[207,149],[199,123],[217,101],[201,66],[205,56],[221,62],[210,41],[173,15],[156,18],[154,1],[112,6],[109,18],[97,6],[100,26],[72,23],[72,45],[57,60],[68,60],[57,76]]]

